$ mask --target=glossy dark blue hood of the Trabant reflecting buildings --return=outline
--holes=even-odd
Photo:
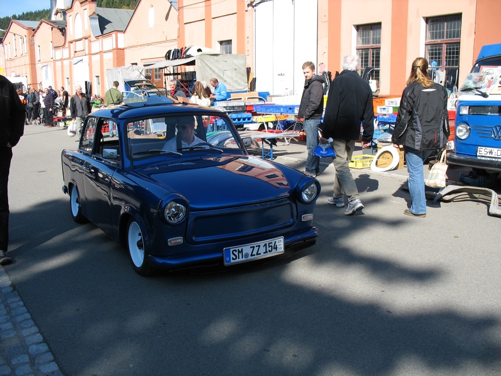
[[[134,172],[167,191],[182,195],[193,209],[288,197],[304,177],[292,169],[287,170],[286,177],[274,163],[255,156],[233,154],[164,160],[136,168]]]

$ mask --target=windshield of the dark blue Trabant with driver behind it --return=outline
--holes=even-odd
[[[228,119],[208,114],[166,115],[134,119],[126,124],[127,145],[132,159],[243,150],[235,133]]]

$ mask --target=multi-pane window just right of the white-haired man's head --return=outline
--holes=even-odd
[[[363,75],[366,68],[373,68],[369,80],[376,80],[379,89],[381,69],[381,24],[357,27],[358,72]]]

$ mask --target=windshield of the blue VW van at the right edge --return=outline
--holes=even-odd
[[[489,94],[495,87],[501,86],[501,57],[483,59],[473,66],[466,80],[461,85],[461,94],[475,95],[479,92]]]

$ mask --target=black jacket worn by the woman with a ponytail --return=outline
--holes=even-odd
[[[408,85],[400,100],[391,141],[416,150],[436,150],[449,137],[447,91],[434,83],[426,89],[419,82]]]

